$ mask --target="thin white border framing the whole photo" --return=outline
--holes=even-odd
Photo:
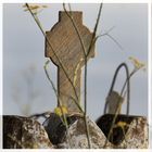
[[[0,40],[1,40],[1,45],[0,45],[0,125],[2,126],[2,118],[1,118],[1,115],[2,115],[2,100],[3,100],[3,48],[2,48],[2,45],[3,45],[3,41],[2,41],[2,29],[3,29],[3,26],[2,26],[2,20],[3,20],[3,3],[25,3],[25,2],[29,2],[29,3],[100,3],[100,2],[103,2],[103,3],[147,3],[148,4],[148,15],[149,15],[149,24],[148,24],[148,42],[149,42],[149,49],[148,49],[148,102],[149,102],[149,113],[148,113],[148,116],[149,116],[149,125],[152,126],[152,111],[151,111],[151,107],[152,107],[152,97],[151,97],[151,93],[152,93],[152,53],[151,53],[151,40],[152,40],[152,1],[151,0],[1,0],[0,1],[0,27],[1,27],[1,30],[0,30]],[[2,148],[2,128],[0,126],[0,149]],[[152,131],[152,130],[151,130]],[[152,141],[152,137],[151,135],[149,134],[149,141],[151,140]],[[149,150],[152,149],[152,143],[149,144]],[[149,151],[148,150],[148,151]],[[4,150],[2,150],[4,151]],[[8,151],[8,150],[7,150]],[[10,150],[9,150],[10,151]],[[28,150],[11,150],[11,151],[28,151]],[[41,151],[41,150],[40,150]],[[50,151],[50,150],[42,150],[42,151]],[[51,151],[58,151],[58,150],[51,150]],[[60,150],[61,151],[61,150]],[[64,151],[64,150],[62,150]],[[65,150],[66,151],[66,150]],[[77,150],[77,151],[81,151],[81,150]],[[89,150],[83,150],[83,151],[89,151]],[[92,150],[91,150],[92,151]],[[100,150],[99,150],[100,151]],[[106,151],[106,150],[101,150],[101,151]],[[111,150],[111,151],[115,151],[115,150]],[[122,151],[122,150],[119,150]],[[129,150],[128,150],[129,151]],[[131,151],[137,151],[137,150],[131,150]]]

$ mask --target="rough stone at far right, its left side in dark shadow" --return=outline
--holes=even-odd
[[[101,116],[97,124],[107,138],[114,115]],[[118,125],[119,124],[119,125]],[[122,124],[122,125],[121,125]],[[117,115],[110,141],[114,149],[147,149],[148,122],[143,116]]]

